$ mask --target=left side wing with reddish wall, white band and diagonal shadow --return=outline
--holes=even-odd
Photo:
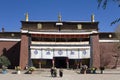
[[[19,65],[20,45],[20,32],[0,32],[0,56],[4,55],[10,60],[11,66],[9,68]]]

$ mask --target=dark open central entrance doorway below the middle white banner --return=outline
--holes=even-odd
[[[54,57],[55,67],[56,68],[67,68],[66,58],[67,57]]]

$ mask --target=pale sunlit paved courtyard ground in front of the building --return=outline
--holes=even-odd
[[[12,74],[14,70],[9,70],[7,74],[0,73],[0,80],[120,80],[120,69],[105,70],[104,74],[79,74],[79,70],[64,70],[64,76],[60,78],[51,77],[49,69],[37,70],[33,74]]]

